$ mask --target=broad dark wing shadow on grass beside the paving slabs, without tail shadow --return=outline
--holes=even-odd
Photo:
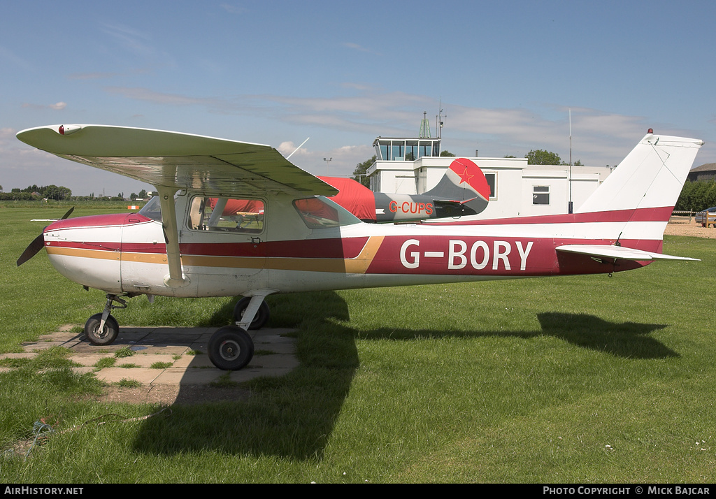
[[[347,304],[333,292],[270,296],[267,301],[271,326],[299,326],[299,367],[283,377],[227,387],[248,389],[241,402],[174,404],[170,417],[143,423],[135,450],[321,457],[358,367],[354,331],[328,320],[347,321]],[[233,302],[218,316],[229,308],[233,311]],[[180,390],[178,400],[182,398]]]

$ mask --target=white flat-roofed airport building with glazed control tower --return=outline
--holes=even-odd
[[[367,170],[375,192],[422,194],[433,188],[455,158],[440,156],[440,137],[377,137],[376,161]],[[608,167],[528,165],[527,158],[469,158],[490,184],[488,207],[473,218],[569,213],[611,173]]]

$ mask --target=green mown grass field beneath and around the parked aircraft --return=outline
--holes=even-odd
[[[1,352],[101,311],[44,253],[16,268],[47,210],[0,216]],[[270,296],[269,325],[299,328],[299,368],[242,385],[245,402],[135,422],[119,420],[160,407],[93,401],[102,386],[51,352],[0,374],[3,449],[55,429],[5,452],[0,481],[710,483],[715,244],[670,237],[664,252],[702,261],[611,278]],[[234,301],[137,297],[115,315],[219,326]]]

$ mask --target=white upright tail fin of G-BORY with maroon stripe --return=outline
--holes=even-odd
[[[614,172],[575,210],[609,222],[609,238],[660,251],[664,228],[702,140],[647,134]]]

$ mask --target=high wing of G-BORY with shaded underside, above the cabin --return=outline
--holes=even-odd
[[[168,190],[223,196],[338,192],[269,145],[105,125],[49,125],[23,130],[17,138],[60,158]]]

